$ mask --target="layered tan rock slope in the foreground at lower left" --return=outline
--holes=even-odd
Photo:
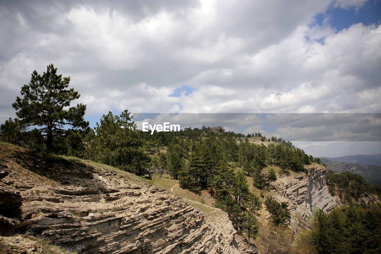
[[[132,174],[0,149],[10,173],[0,182],[0,235],[42,235],[86,253],[255,253],[225,213],[210,225],[199,209]]]

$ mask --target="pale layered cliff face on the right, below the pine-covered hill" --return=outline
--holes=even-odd
[[[330,212],[337,204],[328,192],[327,169],[316,164],[306,169],[308,174],[284,175],[272,183],[278,199],[288,203],[293,218],[311,216],[314,207]]]

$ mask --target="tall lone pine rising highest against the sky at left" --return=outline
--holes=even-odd
[[[42,75],[32,72],[29,84],[21,88],[22,98],[17,96],[12,104],[22,129],[40,127],[37,130],[44,137],[48,152],[60,152],[57,150],[64,143],[67,126],[80,130],[89,125],[83,119],[86,105],[81,103],[64,109],[80,97],[74,88],[66,89],[69,82],[70,77],[62,78],[62,74],[57,74],[57,68],[50,64]]]

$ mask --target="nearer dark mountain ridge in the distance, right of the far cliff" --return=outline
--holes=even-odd
[[[361,175],[368,183],[381,184],[381,167],[376,165],[360,165],[348,162],[335,162],[321,158],[327,164],[327,169],[336,172],[351,172]]]

